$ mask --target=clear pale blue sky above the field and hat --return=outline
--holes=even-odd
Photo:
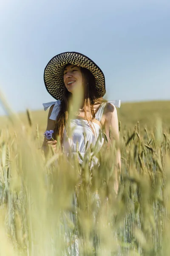
[[[170,99],[169,31],[169,0],[1,1],[0,90],[14,111],[42,109],[46,64],[76,51],[102,69],[107,99]]]

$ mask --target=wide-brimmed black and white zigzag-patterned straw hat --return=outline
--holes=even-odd
[[[54,99],[62,100],[63,98],[63,89],[65,86],[63,74],[66,64],[73,64],[90,70],[94,75],[96,90],[99,96],[102,97],[105,95],[105,76],[94,61],[79,52],[63,52],[54,56],[44,70],[45,87]]]

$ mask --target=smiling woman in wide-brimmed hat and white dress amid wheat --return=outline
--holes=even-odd
[[[57,102],[43,104],[45,110],[50,107],[47,130],[54,130],[54,140],[44,138],[44,150],[47,150],[48,145],[56,149],[57,136],[66,153],[71,151],[71,154],[76,154],[78,143],[78,157],[81,163],[87,141],[88,146],[95,145],[103,128],[109,144],[113,139],[116,140],[116,164],[120,169],[119,128],[115,108],[115,106],[120,107],[120,101],[107,102],[102,98],[106,92],[105,76],[102,70],[85,55],[78,52],[64,52],[54,56],[48,62],[44,71],[44,82],[51,96],[57,99]],[[66,128],[69,104],[74,105],[73,101],[79,101],[79,109],[75,113],[76,116],[71,119],[70,125],[71,128],[74,127],[74,132],[72,137],[68,138]],[[98,140],[98,151],[103,142],[104,138],[100,142]],[[95,164],[97,164],[96,158],[91,165]]]

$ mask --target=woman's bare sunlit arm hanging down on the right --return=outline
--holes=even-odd
[[[120,154],[120,144],[119,144],[119,125],[118,125],[118,117],[117,117],[117,111],[116,108],[111,105],[107,104],[104,112],[105,116],[105,133],[108,137],[108,143],[111,145],[113,143],[113,140],[116,140],[116,165],[114,168],[115,171],[115,191],[118,192],[118,186],[119,186],[119,172],[121,169],[121,154]],[[111,139],[109,138],[109,130],[111,127]]]

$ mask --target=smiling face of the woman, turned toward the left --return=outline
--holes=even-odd
[[[64,69],[64,84],[70,93],[74,93],[74,90],[78,87],[82,87],[82,72],[81,68],[75,65],[68,65]]]

